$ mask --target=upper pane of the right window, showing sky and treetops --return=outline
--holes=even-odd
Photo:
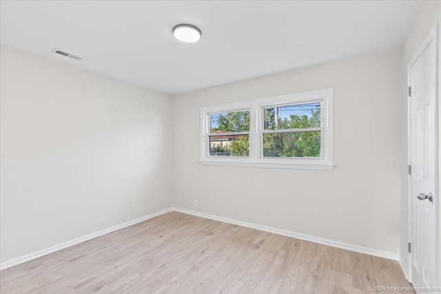
[[[320,127],[320,102],[265,107],[264,129],[308,129]]]

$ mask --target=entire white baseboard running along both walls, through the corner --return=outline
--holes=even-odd
[[[291,232],[291,231],[285,231],[285,230],[281,230],[281,229],[276,229],[276,228],[271,228],[271,227],[265,227],[262,226],[260,224],[252,224],[250,222],[242,222],[240,220],[232,220],[231,218],[223,218],[221,216],[213,216],[211,214],[207,214],[207,213],[201,213],[198,211],[191,211],[191,210],[187,210],[187,209],[181,209],[178,207],[171,207],[169,209],[164,209],[162,211],[158,211],[156,213],[152,213],[148,216],[143,216],[141,218],[136,218],[135,220],[130,220],[129,222],[124,222],[123,224],[118,224],[114,227],[108,228],[108,229],[104,229],[101,231],[98,231],[96,233],[91,233],[89,235],[85,235],[83,237],[80,238],[76,238],[74,240],[70,240],[68,242],[64,242],[58,245],[54,245],[51,246],[49,248],[46,249],[42,249],[39,251],[36,251],[34,253],[29,253],[26,255],[22,255],[18,258],[14,258],[12,260],[6,260],[6,262],[1,262],[0,263],[0,271],[3,269],[8,269],[11,266],[17,265],[17,264],[21,264],[23,262],[28,262],[30,260],[34,260],[35,258],[39,258],[43,255],[47,255],[49,253],[53,253],[55,251],[59,251],[61,249],[65,249],[68,248],[70,246],[79,244],[81,242],[85,242],[88,240],[91,240],[93,238],[99,237],[101,235],[105,235],[107,233],[112,233],[113,231],[119,230],[119,229],[123,229],[125,227],[129,227],[132,224],[137,224],[139,222],[143,222],[145,220],[149,220],[150,218],[154,218],[156,216],[161,216],[161,214],[170,212],[170,211],[178,211],[181,213],[187,213],[187,214],[191,214],[192,216],[200,216],[202,218],[209,218],[211,220],[218,220],[220,222],[228,222],[229,224],[237,224],[239,226],[243,226],[243,227],[249,227],[252,229],[257,229],[260,231],[267,231],[269,233],[276,233],[278,235],[286,235],[288,237],[292,237],[292,238],[298,238],[301,240],[307,240],[307,241],[311,241],[311,242],[316,242],[319,244],[324,244],[324,245],[328,245],[328,246],[333,246],[333,247],[337,247],[337,248],[341,248],[341,249],[347,249],[350,251],[356,251],[356,252],[360,252],[360,253],[365,253],[365,254],[369,254],[369,255],[374,255],[374,256],[378,256],[380,258],[387,258],[389,260],[397,260],[398,262],[400,262],[400,266],[404,272],[404,275],[406,275],[407,277],[407,267],[404,266],[404,264],[402,263],[402,260],[400,260],[399,255],[397,253],[391,253],[391,252],[387,252],[387,251],[381,251],[378,249],[371,249],[368,247],[364,247],[364,246],[358,246],[358,245],[354,245],[354,244],[349,244],[349,243],[344,243],[344,242],[338,242],[338,241],[334,241],[334,240],[329,240],[329,239],[325,239],[325,238],[319,238],[319,237],[314,237],[311,235],[305,235],[302,233],[295,233],[295,232]]]

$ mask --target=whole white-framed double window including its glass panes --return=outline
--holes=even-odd
[[[334,169],[333,90],[201,109],[204,165]]]

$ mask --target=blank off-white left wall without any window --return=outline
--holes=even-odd
[[[1,261],[172,206],[171,98],[1,47]]]

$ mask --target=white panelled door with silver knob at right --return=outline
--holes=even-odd
[[[436,30],[432,30],[409,63],[411,140],[411,253],[410,277],[414,287],[435,287],[435,65]],[[436,185],[435,185],[436,183]],[[424,293],[434,293],[425,291]]]

